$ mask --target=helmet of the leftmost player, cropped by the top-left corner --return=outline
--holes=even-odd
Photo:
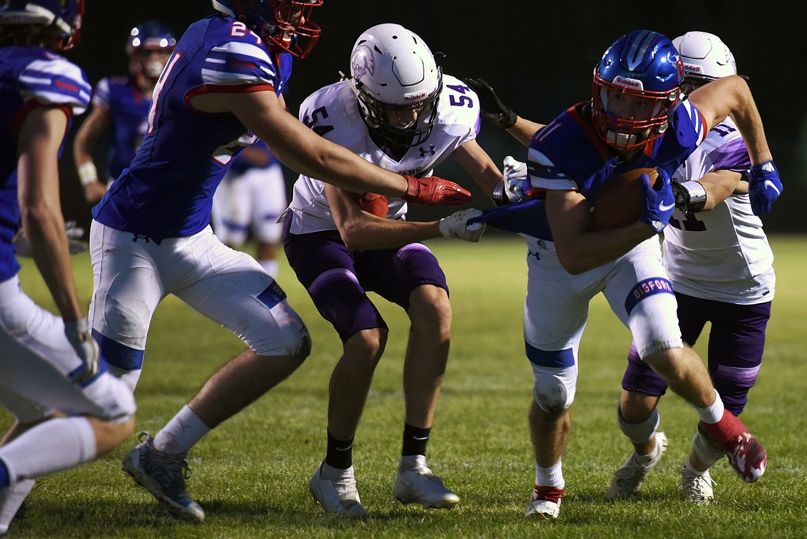
[[[52,26],[61,33],[56,48],[66,51],[79,39],[84,0],[6,0],[0,2],[0,24]]]

